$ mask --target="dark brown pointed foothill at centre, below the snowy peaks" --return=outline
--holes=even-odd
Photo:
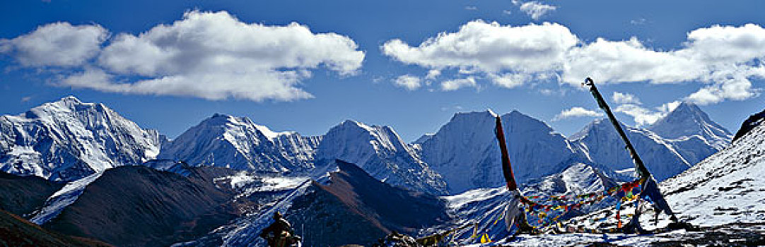
[[[337,165],[330,184],[314,183],[287,214],[304,245],[369,244],[394,230],[412,234],[448,219],[437,197],[382,183],[355,164]]]

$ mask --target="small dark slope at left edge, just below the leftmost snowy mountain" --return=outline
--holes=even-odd
[[[32,213],[63,187],[41,177],[18,176],[0,172],[0,210],[19,216]]]

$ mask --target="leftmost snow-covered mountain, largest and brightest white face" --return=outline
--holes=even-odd
[[[161,136],[100,103],[68,96],[21,115],[0,116],[0,170],[77,180],[159,153]]]

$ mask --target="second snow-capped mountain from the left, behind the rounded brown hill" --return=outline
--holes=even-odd
[[[319,137],[272,132],[246,117],[215,114],[162,148],[158,158],[236,170],[305,171]]]

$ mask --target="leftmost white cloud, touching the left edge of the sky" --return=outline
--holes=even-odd
[[[95,57],[109,32],[99,25],[73,26],[56,22],[11,40],[0,39],[0,53],[24,67],[73,67]]]

